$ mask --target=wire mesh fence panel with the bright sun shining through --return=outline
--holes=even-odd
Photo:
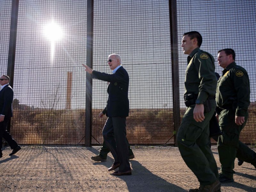
[[[86,1],[20,1],[12,136],[84,143]]]

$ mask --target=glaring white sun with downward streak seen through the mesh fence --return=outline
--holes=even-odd
[[[51,53],[52,53],[52,60],[53,60],[55,42],[60,40],[63,37],[62,29],[60,28],[59,25],[57,25],[52,21],[50,24],[45,26],[44,34],[47,37],[47,39],[49,39],[51,42]]]

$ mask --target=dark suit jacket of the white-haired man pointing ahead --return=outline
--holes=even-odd
[[[109,82],[108,84],[108,117],[127,117],[129,114],[129,75],[127,71],[120,67],[114,74],[101,73],[92,71],[92,78]]]

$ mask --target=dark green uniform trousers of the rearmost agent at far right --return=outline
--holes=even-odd
[[[235,123],[235,110],[224,109],[219,115],[219,125],[223,135],[218,140],[218,153],[220,156],[220,173],[228,178],[233,178],[235,171],[235,159],[241,159],[256,167],[256,153],[248,146],[239,141],[239,135],[248,119],[248,112],[245,115],[245,122],[242,125]]]

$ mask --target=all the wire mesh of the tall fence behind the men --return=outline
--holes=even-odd
[[[84,143],[86,1],[20,1],[11,133],[20,144]],[[0,62],[6,73],[11,1],[0,2]],[[248,7],[250,9],[248,9]],[[250,76],[250,117],[241,141],[255,143],[255,26],[253,0],[178,0],[178,42],[191,30],[201,48],[233,48]],[[111,73],[107,59],[120,54],[130,76],[127,138],[131,144],[174,144],[169,1],[94,1],[93,69]],[[180,44],[178,45],[180,46]],[[187,56],[179,47],[180,115]],[[216,72],[221,68],[215,62]],[[102,143],[107,82],[92,82],[92,144]]]

